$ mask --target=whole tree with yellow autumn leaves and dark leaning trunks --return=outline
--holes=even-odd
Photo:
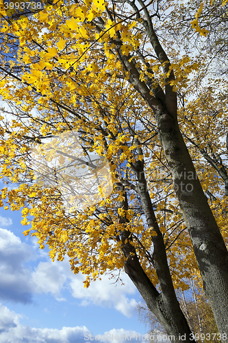
[[[174,6],[1,3],[1,206],[86,287],[124,268],[177,341],[194,338],[175,288],[199,268],[226,341],[227,83],[177,48]]]

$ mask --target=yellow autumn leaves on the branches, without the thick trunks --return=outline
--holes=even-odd
[[[164,65],[151,56],[150,50],[143,60],[138,47],[149,43],[143,19],[131,12],[129,20],[122,19],[121,14],[114,18],[108,1],[53,1],[53,5],[46,5],[34,16],[21,16],[14,23],[8,20],[3,2],[0,7],[1,49],[3,56],[12,56],[10,62],[9,58],[2,61],[3,70],[10,72],[0,82],[0,95],[14,110],[10,123],[7,116],[1,118],[1,178],[18,184],[15,189],[1,190],[0,206],[7,203],[5,209],[21,209],[22,224],[31,226],[24,234],[38,237],[40,248],[47,244],[51,259],[61,261],[68,255],[73,272],[88,275],[86,287],[90,278],[123,268],[125,256],[121,248],[129,237],[122,241],[121,234],[126,231],[144,271],[156,285],[157,275],[149,259],[156,233],[145,223],[142,204],[134,191],[134,164],[142,162],[173,282],[175,287],[185,289],[183,279],[197,270],[190,237],[175,197],[155,118],[129,84],[129,73],[118,57],[121,54],[129,63],[134,60],[141,82],[156,78],[154,88],[160,84],[164,89],[165,80],[174,72],[175,80],[170,86],[176,92],[186,91],[188,99],[192,97],[188,83],[203,61],[173,53],[173,63],[164,71]],[[207,32],[197,24],[202,9],[203,4],[192,26],[205,36]],[[116,12],[121,13],[117,5]],[[203,90],[201,99],[188,101],[179,110],[179,120],[186,141],[194,141],[190,153],[197,161],[197,171],[202,173],[205,191],[213,188],[219,194],[220,200],[213,202],[212,208],[225,228],[220,179],[199,158],[208,141],[213,141],[218,133],[222,137],[227,129],[221,124],[225,108],[220,108],[219,102],[207,93]],[[219,108],[213,121],[201,110],[212,103]],[[110,196],[73,213],[66,210],[57,186],[36,184],[31,163],[34,147],[68,130],[77,131],[85,152],[107,158],[114,183]],[[224,143],[216,148],[223,150]],[[125,185],[119,190],[116,185],[123,179]],[[225,229],[224,234],[226,237]]]

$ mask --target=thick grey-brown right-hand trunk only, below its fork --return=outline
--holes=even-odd
[[[177,119],[157,114],[160,141],[220,333],[228,335],[228,252],[183,141]]]

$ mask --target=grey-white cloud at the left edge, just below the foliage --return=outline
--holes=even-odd
[[[60,294],[66,282],[67,272],[71,272],[68,261],[38,264],[34,271],[25,268],[24,263],[38,257],[35,249],[23,243],[10,230],[0,228],[0,298],[20,303],[31,303],[32,294]]]

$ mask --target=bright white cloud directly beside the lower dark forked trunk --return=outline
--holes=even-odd
[[[125,285],[120,283],[113,284],[113,281],[105,275],[102,276],[101,281],[90,283],[90,287],[84,287],[84,276],[78,274],[71,277],[71,288],[73,289],[73,296],[82,299],[81,305],[86,306],[90,303],[95,305],[114,307],[123,315],[131,317],[137,302],[134,298],[127,298],[127,294],[134,294],[136,287],[131,282],[127,274],[121,275],[121,279]]]

